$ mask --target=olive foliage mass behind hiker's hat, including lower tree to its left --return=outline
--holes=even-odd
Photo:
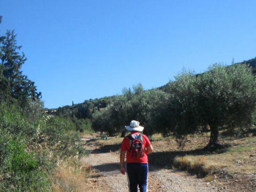
[[[156,117],[159,116],[159,104],[166,94],[159,90],[143,91],[141,84],[130,89],[124,89],[123,95],[113,98],[111,105],[93,115],[93,129],[108,132],[110,135],[123,133],[124,125],[136,119],[147,127],[145,132],[157,132]]]

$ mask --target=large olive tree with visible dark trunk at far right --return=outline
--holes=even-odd
[[[207,148],[218,146],[219,129],[251,122],[256,103],[256,82],[246,65],[213,65],[197,77],[199,123],[210,126]]]

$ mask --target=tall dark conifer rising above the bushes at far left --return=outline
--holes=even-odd
[[[14,31],[7,30],[0,42],[2,75],[9,82],[11,97],[18,100],[21,106],[25,106],[28,99],[41,98],[41,92],[37,92],[35,83],[22,74],[21,66],[27,59],[24,53],[19,52],[20,49]]]

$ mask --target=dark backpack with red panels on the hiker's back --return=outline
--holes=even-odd
[[[142,134],[136,135],[134,139],[132,135],[127,136],[130,139],[130,154],[135,158],[142,158],[144,156],[144,143]]]

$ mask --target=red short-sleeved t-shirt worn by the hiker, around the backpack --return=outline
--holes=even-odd
[[[131,133],[132,135],[133,134],[140,134],[140,132],[134,132],[134,133]],[[151,145],[147,135],[145,134],[142,134],[142,140],[143,140],[143,143],[144,143],[144,147],[149,147]],[[126,151],[126,162],[127,163],[148,163],[148,156],[146,153],[144,153],[143,157],[142,158],[136,158],[136,157],[133,157],[131,153],[129,153],[129,150],[130,150],[130,139],[128,137],[125,137],[123,139],[123,142],[122,142],[122,145],[121,145],[121,150],[122,151]]]

